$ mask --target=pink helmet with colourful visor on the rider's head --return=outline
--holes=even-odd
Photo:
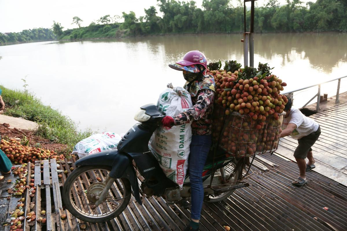
[[[204,69],[207,69],[206,56],[198,50],[189,51],[184,55],[183,60],[180,60],[174,64],[169,64],[169,66],[170,68],[179,71],[189,71],[194,73],[203,71],[202,68],[200,68],[197,64],[202,65]]]

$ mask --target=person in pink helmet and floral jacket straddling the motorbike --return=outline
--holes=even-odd
[[[198,230],[204,198],[202,171],[212,144],[212,111],[215,83],[212,75],[206,75],[207,60],[200,51],[189,51],[183,60],[169,64],[170,68],[183,71],[187,81],[184,88],[191,94],[194,106],[172,118],[162,120],[164,127],[192,123],[192,142],[189,154],[189,174],[192,194],[191,222],[185,229]]]

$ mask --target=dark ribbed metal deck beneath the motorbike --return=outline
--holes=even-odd
[[[60,166],[71,172],[71,166],[63,167],[61,163]],[[291,182],[298,176],[296,163],[277,154],[257,156],[251,169],[254,174],[245,180],[249,187],[237,189],[223,202],[203,204],[200,230],[224,230],[223,225],[237,231],[347,230],[347,187],[314,171],[307,172],[307,185],[295,187]],[[64,184],[66,176],[62,175]],[[53,181],[51,184],[57,186]],[[51,230],[81,230],[82,224],[86,225],[85,230],[92,231],[183,230],[189,222],[189,210],[168,206],[162,197],[151,197],[143,198],[143,206],[132,198],[126,210],[109,222],[86,223],[60,209],[61,198],[56,190],[46,190],[47,185],[41,188],[42,204],[46,204],[45,195],[54,197]],[[67,219],[60,222],[58,217],[65,213]],[[27,230],[34,230],[34,227]],[[47,230],[47,226],[40,229]]]

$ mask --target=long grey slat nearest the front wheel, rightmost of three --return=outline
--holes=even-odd
[[[51,159],[51,175],[52,175],[52,186],[53,186],[53,198],[54,198],[54,208],[56,212],[55,222],[57,223],[58,230],[65,230],[65,224],[61,221],[60,216],[64,214],[60,188],[59,188],[59,178],[57,171],[56,159]],[[53,219],[54,220],[54,219]]]

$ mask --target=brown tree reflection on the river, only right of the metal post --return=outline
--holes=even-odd
[[[338,62],[347,62],[346,33],[257,34],[254,46],[255,53],[265,59],[280,55],[283,64],[294,61],[292,51],[303,53],[301,59],[307,58],[313,68],[324,72],[330,72]]]

